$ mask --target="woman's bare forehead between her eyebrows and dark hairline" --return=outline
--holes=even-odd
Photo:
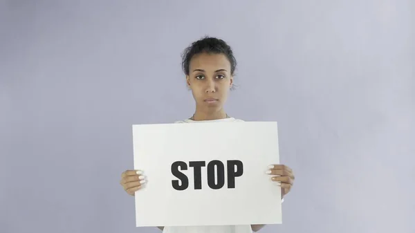
[[[196,68],[223,68],[230,71],[230,62],[228,58],[223,54],[216,53],[201,53],[194,55],[190,61],[190,72]]]

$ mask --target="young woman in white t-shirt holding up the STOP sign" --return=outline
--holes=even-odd
[[[183,71],[187,86],[192,90],[196,109],[191,118],[176,123],[197,122],[238,122],[223,109],[237,66],[232,49],[225,41],[205,37],[195,41],[185,49],[183,55]],[[290,192],[293,186],[293,170],[285,165],[270,165],[266,172],[270,180],[282,188],[282,197]],[[121,185],[127,194],[133,196],[146,182],[140,171],[127,170],[122,173]],[[247,209],[249,211],[249,209]],[[257,232],[264,225],[224,225],[194,227],[158,227],[165,233],[251,233]]]

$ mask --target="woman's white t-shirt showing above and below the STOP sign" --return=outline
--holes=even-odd
[[[243,122],[235,118],[219,120],[181,120],[175,123],[199,123],[199,122]],[[250,225],[212,225],[190,227],[164,227],[163,233],[252,233]]]

